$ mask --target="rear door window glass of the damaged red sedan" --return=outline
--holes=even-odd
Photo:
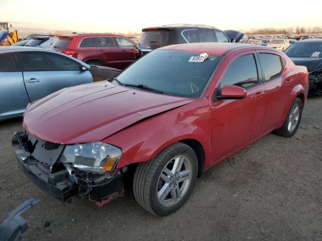
[[[260,53],[261,69],[264,72],[265,81],[278,77],[282,71],[281,57],[276,54]]]

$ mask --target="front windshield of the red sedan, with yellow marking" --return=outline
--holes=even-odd
[[[122,71],[122,84],[142,84],[164,94],[199,98],[207,87],[221,55],[209,55],[204,62],[191,62],[199,52],[154,50]]]

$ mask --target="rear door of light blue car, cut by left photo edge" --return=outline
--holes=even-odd
[[[29,103],[22,71],[14,52],[0,54],[0,119],[23,113]]]

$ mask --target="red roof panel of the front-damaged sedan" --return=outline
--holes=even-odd
[[[241,44],[241,43],[218,43],[218,42],[209,42],[209,43],[190,43],[190,44],[176,44],[169,45],[158,50],[181,50],[181,51],[191,51],[191,52],[205,52],[208,54],[219,54],[224,55],[227,52],[239,48],[250,48],[250,49],[266,49],[271,50],[265,46],[254,45],[254,44]]]

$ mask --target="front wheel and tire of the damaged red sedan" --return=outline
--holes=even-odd
[[[197,174],[198,160],[193,149],[175,143],[153,160],[138,164],[133,179],[134,197],[150,213],[169,215],[188,199]]]

